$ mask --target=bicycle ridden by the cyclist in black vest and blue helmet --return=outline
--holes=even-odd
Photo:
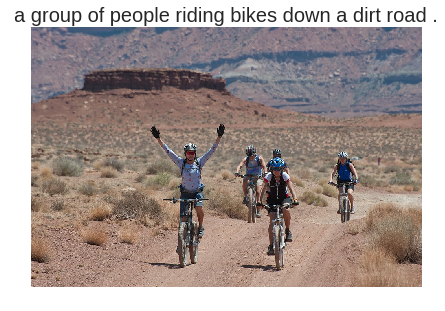
[[[292,203],[292,206],[298,204],[298,202]],[[277,270],[281,270],[284,267],[284,248],[286,246],[286,242],[283,208],[289,208],[290,206],[290,203],[284,203],[282,205],[264,205],[264,208],[267,210],[267,212],[270,212],[271,209],[277,210],[277,216],[275,219],[272,220],[272,245],[275,253],[275,266]]]

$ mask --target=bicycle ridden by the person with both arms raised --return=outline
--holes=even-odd
[[[187,265],[188,254],[190,256],[190,262],[195,264],[198,262],[198,224],[192,219],[193,209],[197,202],[208,199],[164,199],[164,201],[170,201],[171,203],[185,202],[187,204],[187,213],[180,217],[178,227],[178,248],[179,265],[184,268]],[[183,221],[183,218],[186,220]]]

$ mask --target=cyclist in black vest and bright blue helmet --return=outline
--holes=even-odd
[[[267,204],[270,205],[282,205],[284,203],[298,203],[297,195],[295,194],[294,186],[292,184],[292,181],[290,180],[289,174],[284,172],[285,163],[284,160],[276,157],[274,158],[271,163],[270,167],[272,169],[272,172],[269,172],[264,177],[264,185],[263,189],[261,190],[261,196],[260,196],[260,202],[262,205],[262,199],[265,190],[269,187],[269,193],[267,196]],[[289,192],[292,194],[293,200],[289,197]],[[274,254],[273,249],[273,235],[272,235],[272,228],[273,228],[273,219],[275,219],[277,214],[276,209],[269,209],[269,217],[270,217],[270,223],[269,223],[269,248],[267,250],[268,255]],[[292,242],[292,233],[290,231],[290,220],[291,216],[287,209],[283,209],[283,216],[284,216],[284,224],[286,226],[286,242]]]

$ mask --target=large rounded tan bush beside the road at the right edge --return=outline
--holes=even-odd
[[[366,218],[371,245],[384,249],[398,262],[422,262],[422,211],[393,204],[376,205]]]

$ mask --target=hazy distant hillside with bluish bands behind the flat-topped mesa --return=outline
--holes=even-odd
[[[110,28],[111,29],[111,28]],[[184,68],[233,95],[329,117],[422,111],[421,28],[32,28],[31,101],[97,69]]]

